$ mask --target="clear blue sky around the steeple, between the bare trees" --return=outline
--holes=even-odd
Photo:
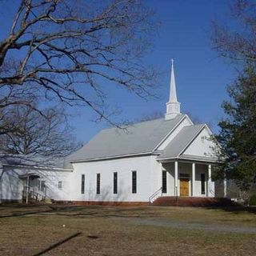
[[[162,22],[158,33],[152,38],[154,49],[146,57],[149,64],[164,71],[156,85],[156,93],[160,98],[145,101],[118,90],[116,86],[111,87],[108,103],[122,109],[117,121],[131,121],[155,111],[165,112],[170,90],[170,59],[174,58],[182,113],[190,113],[194,118],[209,123],[215,132],[218,130],[217,124],[223,115],[221,104],[227,98],[226,85],[234,81],[236,73],[233,66],[218,58],[218,54],[211,49],[209,34],[210,22],[230,22],[226,16],[228,2],[146,0],[146,4],[154,8],[157,19]],[[9,9],[0,10],[6,21],[12,18],[11,13],[14,12],[11,5],[7,7]],[[0,28],[2,32],[6,30],[4,24],[0,24]],[[88,108],[72,108],[70,114],[73,115],[70,122],[74,126],[74,134],[82,142],[87,142],[107,126],[106,122],[92,122],[94,113]]]

